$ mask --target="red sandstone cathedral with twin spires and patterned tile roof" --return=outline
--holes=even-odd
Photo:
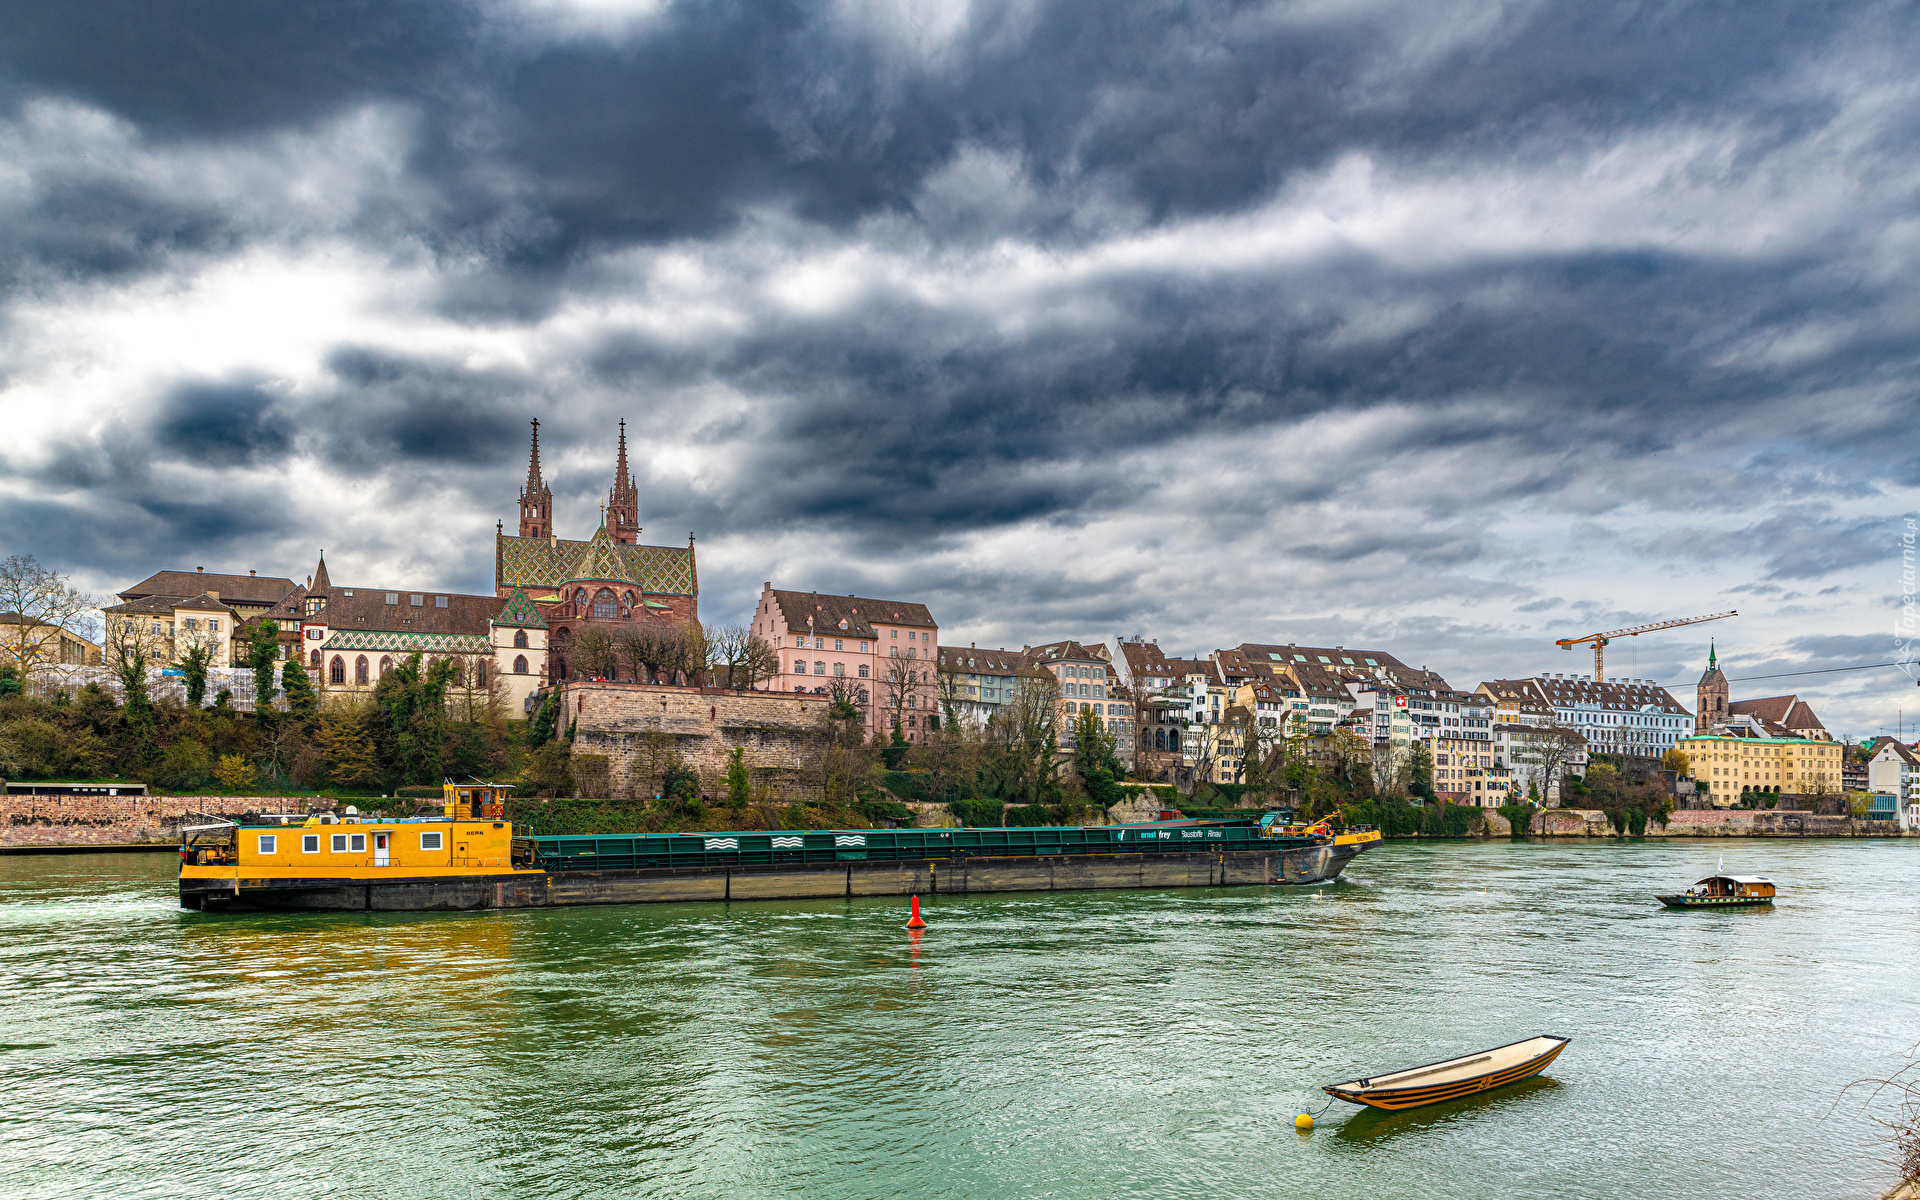
[[[685,545],[643,545],[639,540],[639,488],[626,463],[626,420],[614,459],[612,488],[601,524],[586,541],[553,536],[553,492],[540,474],[540,422],[520,490],[520,530],[493,534],[493,591],[501,599],[522,593],[547,626],[549,680],[586,678],[609,664],[570,662],[584,634],[601,630],[618,639],[637,628],[674,628],[699,622],[699,570],[693,536]],[[524,601],[522,601],[524,603]],[[612,676],[626,676],[612,664]]]

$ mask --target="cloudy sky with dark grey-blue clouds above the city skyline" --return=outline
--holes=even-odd
[[[492,586],[614,422],[701,611],[1899,657],[1908,4],[0,6],[0,541]],[[1644,643],[1644,645],[1642,645]],[[1897,670],[1799,689],[1920,726]]]

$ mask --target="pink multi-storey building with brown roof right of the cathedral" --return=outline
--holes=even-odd
[[[870,739],[895,720],[908,741],[939,728],[939,626],[925,605],[764,584],[753,636],[780,655],[766,691],[843,695]]]

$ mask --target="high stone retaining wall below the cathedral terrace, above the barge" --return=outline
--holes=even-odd
[[[726,795],[733,747],[755,799],[820,795],[829,697],[660,684],[564,684],[561,714],[574,724],[574,795],[651,799],[680,760],[701,795]]]

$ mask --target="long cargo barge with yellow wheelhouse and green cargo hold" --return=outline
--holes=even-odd
[[[993,829],[760,829],[538,837],[503,787],[449,785],[438,814],[221,822],[180,847],[180,906],[432,912],[1325,883],[1373,829],[1152,822]]]

